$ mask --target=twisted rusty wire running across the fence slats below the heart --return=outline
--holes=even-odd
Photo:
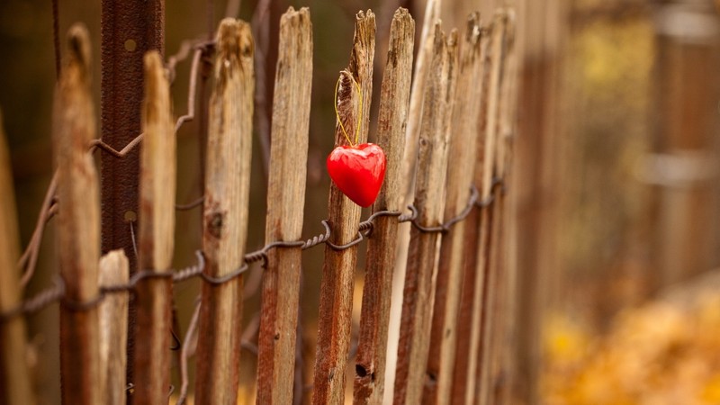
[[[497,186],[502,186],[504,189],[504,183],[501,179],[493,180],[491,188],[495,188]],[[11,320],[20,315],[33,314],[37,311],[44,309],[45,307],[49,306],[54,302],[61,302],[62,305],[70,311],[87,311],[96,307],[100,302],[102,302],[107,294],[134,293],[137,285],[148,278],[168,278],[171,279],[174,284],[176,284],[182,283],[192,278],[199,277],[206,284],[215,286],[220,284],[226,284],[229,283],[231,280],[234,280],[238,276],[245,274],[249,269],[250,264],[262,262],[261,266],[265,267],[267,265],[267,254],[270,250],[274,248],[299,247],[302,250],[306,250],[321,244],[328,245],[334,250],[345,250],[347,248],[354,247],[360,242],[362,242],[364,238],[371,236],[371,233],[374,229],[374,220],[381,216],[397,217],[398,222],[410,221],[412,225],[415,228],[419,229],[419,231],[421,232],[437,232],[445,234],[449,232],[450,229],[452,229],[455,223],[467,218],[467,216],[470,214],[471,211],[473,211],[473,209],[484,209],[489,207],[494,201],[494,199],[492,199],[491,197],[492,194],[489,198],[480,201],[478,197],[478,191],[475,187],[473,187],[470,198],[465,205],[464,210],[455,217],[446,220],[445,222],[437,226],[420,224],[418,220],[418,210],[412,205],[408,207],[410,209],[410,213],[407,214],[402,214],[400,211],[377,211],[374,212],[373,215],[371,215],[367,220],[362,221],[358,224],[357,237],[344,245],[335,245],[329,241],[331,236],[330,225],[328,220],[322,220],[321,224],[325,228],[325,232],[320,233],[319,235],[316,235],[305,241],[275,241],[268,243],[266,246],[254,252],[247,253],[244,257],[244,263],[242,266],[239,266],[236,270],[230,272],[228,275],[222,275],[217,277],[205,273],[205,258],[202,255],[202,252],[198,250],[197,252],[195,252],[195,255],[197,257],[197,264],[193,266],[187,266],[179,270],[140,270],[139,272],[132,275],[132,277],[130,277],[130,281],[127,284],[103,286],[102,288],[100,288],[97,297],[86,302],[74,302],[68,300],[65,296],[65,283],[60,277],[58,277],[54,283],[55,285],[53,285],[52,287],[49,287],[46,290],[38,293],[31,299],[22,302],[20,305],[9,311],[0,312],[0,323]]]

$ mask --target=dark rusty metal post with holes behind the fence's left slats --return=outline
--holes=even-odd
[[[157,49],[161,54],[164,51],[165,0],[103,0],[102,7],[101,133],[105,143],[120,150],[140,133],[142,58],[150,49]],[[105,254],[124,249],[130,261],[130,274],[137,271],[138,261],[131,234],[137,230],[133,222],[138,212],[138,175],[139,148],[121,158],[102,154],[102,251]],[[135,323],[131,304],[129,320],[128,356],[131,358]],[[133,382],[130,370],[131,367],[128,383]]]

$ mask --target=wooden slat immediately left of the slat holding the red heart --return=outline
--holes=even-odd
[[[266,244],[300,240],[307,179],[312,84],[312,23],[308,8],[290,7],[280,20]],[[301,247],[270,250],[263,273],[257,356],[257,403],[293,403]]]

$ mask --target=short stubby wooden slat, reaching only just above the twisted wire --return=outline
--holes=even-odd
[[[124,250],[112,250],[100,258],[101,287],[127,284],[129,279],[130,265]],[[100,376],[106,405],[124,405],[127,400],[128,301],[128,293],[113,293],[100,303]]]

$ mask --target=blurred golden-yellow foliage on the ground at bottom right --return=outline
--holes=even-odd
[[[596,338],[553,317],[544,343],[544,403],[720,404],[720,294],[622,312]]]

